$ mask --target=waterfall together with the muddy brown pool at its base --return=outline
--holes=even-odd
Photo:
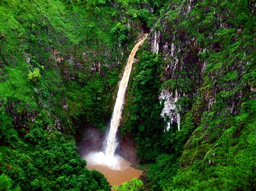
[[[87,167],[89,169],[97,169],[99,172],[103,173],[110,182],[110,185],[120,185],[123,182],[132,180],[133,178],[138,178],[141,174],[141,171],[130,167],[130,162],[125,161],[122,157],[115,154],[115,151],[118,146],[116,135],[122,118],[125,91],[129,82],[134,56],[139,46],[143,44],[146,38],[147,34],[144,34],[143,38],[140,39],[133,47],[127,61],[122,80],[120,81],[117,100],[114,104],[110,129],[106,134],[102,151],[90,152],[83,156],[83,158],[88,162]]]

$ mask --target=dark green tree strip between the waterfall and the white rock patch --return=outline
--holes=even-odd
[[[142,161],[155,160],[161,144],[159,140],[163,132],[163,119],[160,117],[161,107],[156,94],[160,85],[161,63],[160,56],[143,52],[129,85],[122,130],[134,136]]]

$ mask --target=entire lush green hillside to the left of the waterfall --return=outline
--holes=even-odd
[[[105,128],[127,54],[154,20],[149,6],[0,2],[1,190],[109,189],[74,136],[82,125]]]

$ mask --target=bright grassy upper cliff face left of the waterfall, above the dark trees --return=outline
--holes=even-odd
[[[16,129],[29,131],[38,119],[49,130],[74,133],[79,116],[104,126],[129,42],[142,28],[122,9],[119,3],[1,2],[0,104]]]

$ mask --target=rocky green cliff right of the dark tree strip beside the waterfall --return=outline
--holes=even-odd
[[[209,173],[213,182],[232,187],[220,180],[220,174],[231,174],[234,163],[230,160],[239,157],[248,161],[244,168],[249,173],[241,176],[249,183],[233,186],[252,186],[253,159],[242,153],[255,148],[254,8],[253,1],[172,1],[151,30],[149,50],[165,62],[159,93],[164,102],[161,116],[168,122],[165,131],[172,130],[172,137],[180,140],[171,140],[176,151],[166,153],[182,153],[180,170],[176,174],[173,168],[176,176],[169,175],[167,183],[159,177],[170,174],[173,164],[163,165],[171,158],[159,157],[162,172],[156,180],[161,186],[205,189],[207,183],[203,186],[199,181],[195,186],[188,177]],[[185,146],[173,145],[180,143]]]

